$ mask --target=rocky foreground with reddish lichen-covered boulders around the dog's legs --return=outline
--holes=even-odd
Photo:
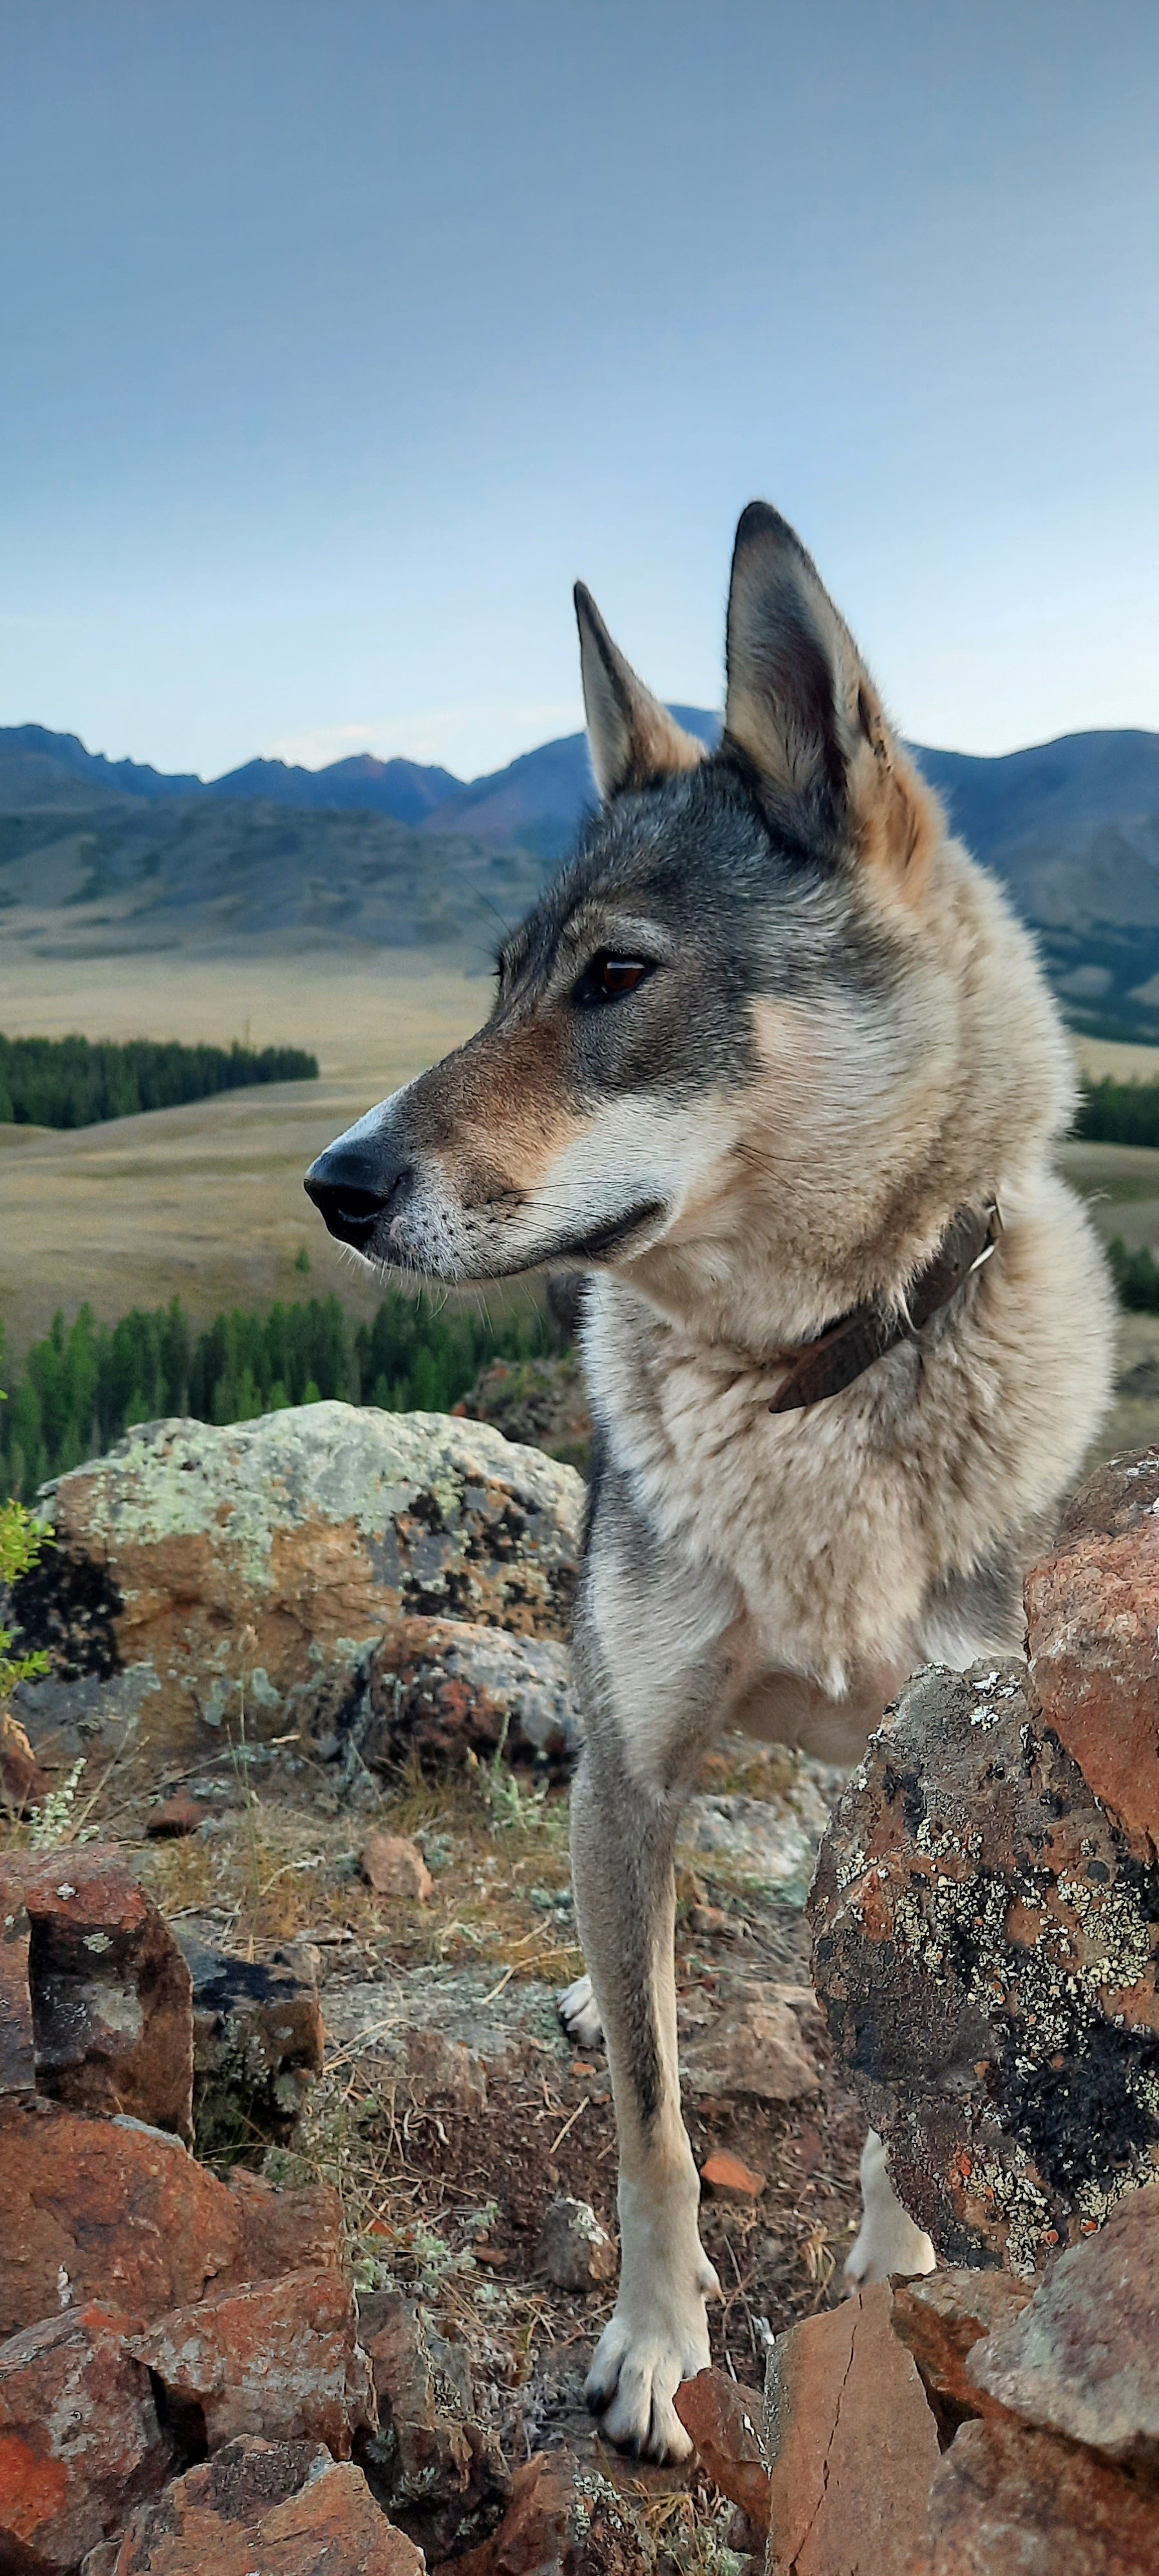
[[[0,1736],[0,2566],[755,2576],[770,2532],[783,2576],[1159,2571],[1159,1461],[1071,1507],[1028,1667],[919,1677],[853,1780],[703,1765],[724,2298],[675,2470],[582,2406],[580,1507],[489,1425],[348,1406],[152,1425],[46,1497],[13,1610],[52,1672]],[[842,2303],[868,2112],[963,2269]]]

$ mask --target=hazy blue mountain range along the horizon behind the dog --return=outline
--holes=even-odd
[[[719,716],[677,706],[703,742]],[[914,744],[953,829],[1035,925],[1079,1025],[1159,1036],[1159,734],[1092,732],[986,760]],[[361,752],[224,778],[0,729],[5,943],[39,953],[291,943],[492,948],[592,804],[585,734],[487,778]]]

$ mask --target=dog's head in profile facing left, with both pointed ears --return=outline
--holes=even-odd
[[[505,943],[487,1025],[306,1175],[332,1234],[425,1278],[641,1275],[711,1242],[755,1164],[791,1226],[837,1159],[855,1182],[919,1051],[899,994],[940,814],[786,520],[755,502],[737,531],[708,757],[582,587],[577,616],[600,814]]]

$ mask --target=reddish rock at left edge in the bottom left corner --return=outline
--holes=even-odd
[[[0,2566],[75,2568],[170,2468],[124,2318],[90,2303],[0,2344]]]

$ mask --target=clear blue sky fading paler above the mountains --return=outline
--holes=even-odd
[[[500,768],[572,580],[721,701],[801,531],[896,721],[1159,726],[1154,0],[0,0],[0,721]]]

